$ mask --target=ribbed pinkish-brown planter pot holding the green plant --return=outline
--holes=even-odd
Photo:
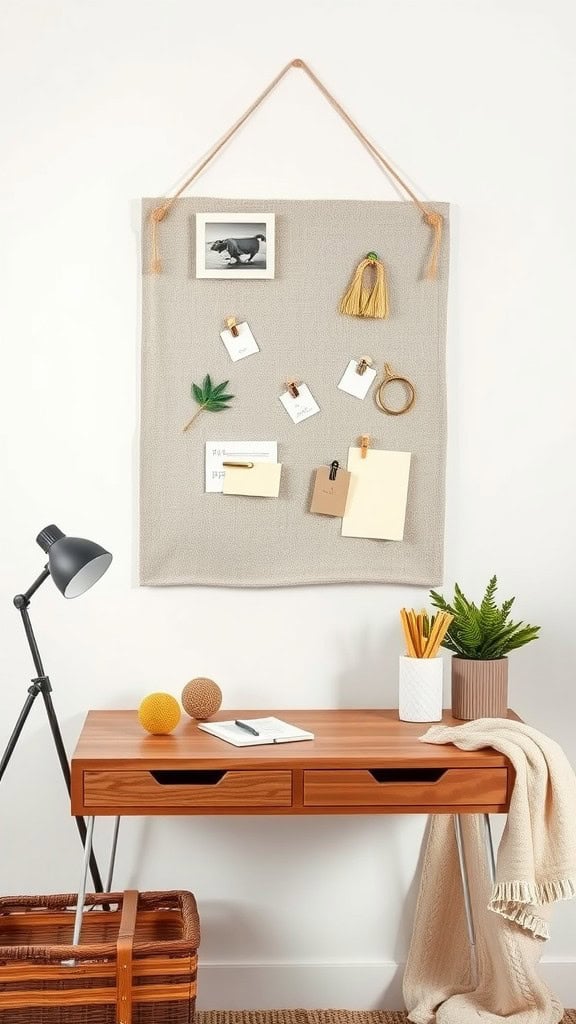
[[[508,659],[475,662],[452,658],[452,714],[454,718],[505,718],[508,709]]]

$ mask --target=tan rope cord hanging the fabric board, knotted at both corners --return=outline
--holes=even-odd
[[[236,132],[239,131],[242,125],[248,120],[249,117],[251,117],[254,111],[257,110],[260,103],[264,101],[266,96],[269,96],[270,93],[276,88],[276,86],[282,81],[284,76],[288,74],[291,68],[301,68],[301,70],[306,73],[311,81],[314,82],[314,84],[317,86],[318,89],[320,89],[322,95],[328,100],[330,105],[334,108],[334,110],[340,115],[342,120],[345,121],[348,128],[360,139],[362,144],[368,150],[370,154],[372,154],[376,162],[380,165],[380,168],[390,177],[393,177],[395,181],[398,182],[398,184],[401,186],[401,188],[404,189],[406,195],[410,197],[415,206],[417,206],[418,210],[422,214],[422,217],[424,218],[424,221],[433,230],[431,249],[428,258],[428,263],[426,266],[425,276],[436,278],[438,275],[438,263],[440,257],[440,249],[442,245],[442,227],[443,227],[442,214],[438,213],[436,210],[428,210],[424,206],[424,204],[420,202],[418,197],[415,195],[414,191],[412,191],[412,189],[406,183],[406,181],[404,181],[404,179],[401,178],[398,171],[394,169],[392,164],[388,163],[388,161],[380,153],[380,151],[377,150],[376,146],[373,144],[373,142],[371,142],[370,139],[364,134],[360,126],[357,125],[356,121],[354,121],[353,118],[351,118],[349,114],[347,114],[346,111],[343,109],[343,106],[338,102],[336,97],[332,95],[329,89],[326,88],[323,82],[320,81],[320,79],[314,74],[312,69],[308,68],[307,63],[300,57],[296,57],[294,60],[291,60],[290,63],[287,63],[286,67],[282,69],[282,71],[276,76],[276,78],[274,78],[272,82],[270,82],[269,85],[265,87],[265,89],[259,94],[259,96],[256,97],[254,102],[251,103],[250,106],[244,112],[242,117],[240,117],[238,121],[236,121],[235,124],[233,124],[232,127],[229,128],[225,134],[222,135],[222,137],[212,146],[212,148],[200,162],[198,167],[196,167],[195,170],[192,172],[190,177],[188,177],[183,182],[183,184],[180,185],[178,190],[152,211],[150,215],[150,220],[152,225],[151,270],[153,271],[153,273],[159,273],[160,270],[162,269],[159,243],[158,243],[158,225],[161,223],[161,221],[164,220],[166,215],[170,212],[176,200],[182,195],[183,191],[186,191],[189,185],[191,185],[192,182],[195,181],[196,178],[200,176],[200,174],[202,174],[202,171],[208,166],[209,163],[211,163],[211,161],[214,159],[214,157],[217,156],[220,150],[222,150],[224,145],[227,145],[227,143],[231,140],[233,135],[235,135]]]

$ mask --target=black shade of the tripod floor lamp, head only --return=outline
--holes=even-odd
[[[80,597],[106,572],[112,555],[106,548],[82,537],[67,537],[53,524],[36,538],[48,555],[48,568],[65,597]]]

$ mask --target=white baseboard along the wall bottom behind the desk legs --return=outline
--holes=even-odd
[[[400,964],[204,964],[199,1010],[402,1010]],[[576,1007],[576,957],[545,961],[541,975]]]

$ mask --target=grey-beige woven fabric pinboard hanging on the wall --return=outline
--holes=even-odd
[[[423,271],[430,230],[412,203],[178,199],[160,224],[162,272],[150,267],[142,201],[140,425],[141,585],[283,587],[442,582],[446,449],[445,338],[448,205],[438,279]],[[195,214],[276,214],[276,278],[198,280]],[[344,316],[338,302],[374,250],[386,266],[390,314]],[[260,351],[233,362],[219,332],[246,321]],[[386,416],[371,391],[339,391],[351,358],[370,355],[409,378],[416,401]],[[229,379],[230,410],[193,415],[193,381]],[[279,401],[288,379],[305,382],[321,412],[292,423]],[[412,453],[404,541],[340,536],[341,520],[308,512],[318,466],[346,465],[363,433],[374,447]],[[278,499],[204,493],[206,440],[277,440]],[[369,457],[369,456],[368,456]]]

